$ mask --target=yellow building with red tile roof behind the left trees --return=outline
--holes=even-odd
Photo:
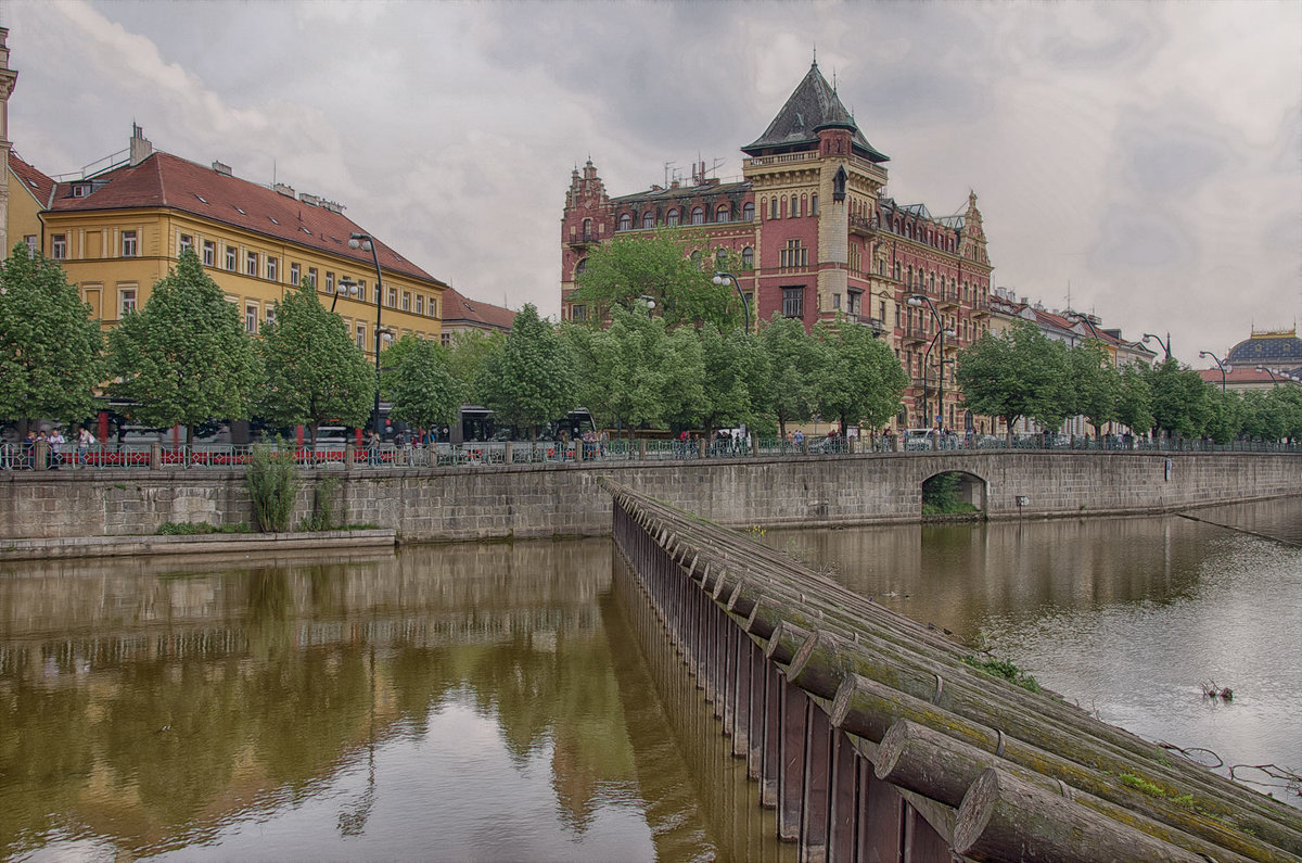
[[[10,211],[17,211],[22,196],[12,180]],[[42,250],[62,263],[105,329],[142,308],[190,248],[253,335],[286,289],[312,279],[367,353],[378,336],[440,338],[448,285],[379,240],[374,258],[366,242],[350,246],[350,239],[368,235],[340,205],[241,180],[220,162],[202,166],[155,151],[139,126],[125,160],[55,184],[39,216]],[[357,296],[345,285],[355,285]]]

